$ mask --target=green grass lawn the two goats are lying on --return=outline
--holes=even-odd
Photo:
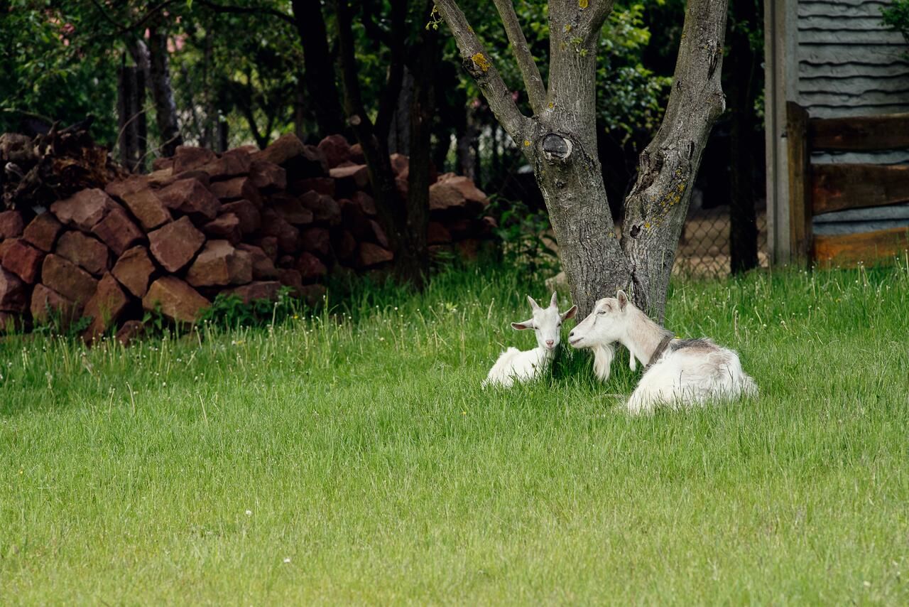
[[[909,602],[909,269],[675,284],[761,396],[636,419],[624,352],[479,388],[517,277],[0,342],[0,602]]]

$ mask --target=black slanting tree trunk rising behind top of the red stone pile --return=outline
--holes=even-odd
[[[293,0],[291,6],[303,46],[303,81],[315,110],[319,137],[344,133],[344,113],[335,85],[335,61],[328,49],[322,3],[317,0]]]

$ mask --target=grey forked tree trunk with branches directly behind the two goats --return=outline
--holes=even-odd
[[[662,320],[691,186],[710,128],[723,109],[720,64],[726,0],[688,2],[673,91],[625,200],[621,243],[597,157],[595,121],[596,48],[612,6],[612,0],[549,4],[549,86],[542,111],[529,118],[514,105],[456,0],[436,2],[464,68],[534,167],[580,313],[588,314],[596,299],[630,285],[635,303]],[[502,12],[507,31],[512,15],[507,7]],[[524,85],[532,90],[533,70],[520,51],[517,60]]]

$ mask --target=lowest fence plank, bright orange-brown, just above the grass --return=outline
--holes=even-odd
[[[909,249],[909,228],[882,229],[846,236],[814,237],[814,260],[835,266],[872,265],[893,260]]]

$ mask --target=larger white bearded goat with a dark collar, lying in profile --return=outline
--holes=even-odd
[[[646,365],[644,377],[628,400],[631,413],[650,413],[658,403],[671,407],[703,403],[711,399],[757,396],[754,379],[742,370],[738,355],[710,339],[673,339],[673,334],[637,309],[623,291],[615,298],[596,302],[594,311],[571,333],[574,348],[612,349],[620,342],[632,357]],[[594,371],[600,379],[609,377],[603,361]]]

